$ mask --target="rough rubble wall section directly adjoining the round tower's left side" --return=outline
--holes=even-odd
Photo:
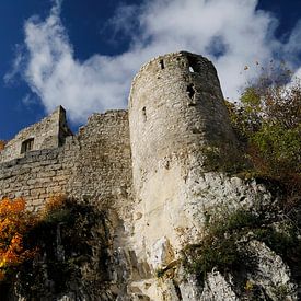
[[[127,198],[131,188],[128,113],[93,114],[80,129],[78,141],[70,195],[97,204]]]

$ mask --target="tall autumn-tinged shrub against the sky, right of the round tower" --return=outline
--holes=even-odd
[[[261,77],[240,103],[227,105],[252,172],[279,180],[296,195],[301,192],[301,82],[287,85],[282,73],[278,78]]]

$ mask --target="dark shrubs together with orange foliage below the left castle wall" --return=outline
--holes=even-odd
[[[11,243],[5,250],[7,253],[12,250],[18,256],[11,256],[5,268],[1,266],[1,270],[10,275],[5,283],[0,286],[1,296],[8,293],[10,286],[14,286],[18,294],[32,300],[47,298],[49,293],[70,292],[83,282],[85,288],[93,287],[92,291],[104,285],[107,279],[108,232],[103,211],[72,199],[55,197],[49,199],[45,209],[34,218],[34,222],[30,219],[28,223],[27,217],[31,215],[24,213],[25,202],[14,201],[14,207],[19,206],[16,210],[12,206],[8,207],[8,201],[0,204],[7,208],[7,216],[15,219],[10,222],[11,228],[8,228],[12,229],[12,234]],[[23,236],[24,248],[21,245]],[[1,255],[0,259],[5,261],[7,255]],[[97,275],[92,273],[93,265],[100,266]],[[14,274],[9,274],[9,269]],[[91,270],[88,278],[82,275],[84,270]],[[97,279],[96,287],[94,278]]]

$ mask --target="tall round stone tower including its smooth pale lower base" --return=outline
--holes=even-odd
[[[134,190],[142,216],[136,231],[150,240],[144,245],[160,240],[160,229],[176,242],[174,229],[193,222],[185,208],[194,201],[188,195],[204,171],[204,148],[235,148],[213,65],[185,51],[144,65],[131,85],[129,129]]]

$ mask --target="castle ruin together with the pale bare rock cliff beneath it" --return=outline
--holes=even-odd
[[[202,285],[184,273],[181,252],[199,243],[212,212],[268,211],[277,202],[256,180],[206,170],[206,151],[212,149],[235,153],[238,142],[215,67],[186,51],[160,56],[140,69],[128,111],[95,113],[72,135],[59,106],[20,131],[0,152],[0,200],[23,197],[38,211],[48,198],[66,195],[105,210],[109,220],[107,267],[100,262],[104,246],[94,227],[78,286],[63,296],[44,288],[49,299],[40,300],[244,300],[239,299],[246,293],[241,279],[254,280],[261,300],[278,300],[274,288],[282,287],[288,300],[298,300],[286,263],[254,239],[236,242],[258,263],[240,271],[238,283],[216,267]],[[105,268],[102,288],[99,276]],[[159,279],[158,273],[167,270],[172,276]]]

